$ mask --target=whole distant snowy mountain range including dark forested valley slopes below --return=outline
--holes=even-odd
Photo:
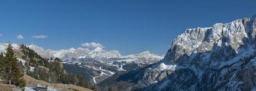
[[[121,56],[119,51],[105,51],[102,48],[70,48],[68,50],[44,50],[37,45],[27,45],[39,55],[50,58],[60,58],[68,72],[86,76],[87,80],[97,84],[108,77],[148,66],[162,60],[163,56],[144,51],[140,54]]]

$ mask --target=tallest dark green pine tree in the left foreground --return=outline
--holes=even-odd
[[[26,81],[23,80],[23,74],[21,73],[20,68],[18,67],[18,60],[14,56],[14,51],[12,50],[12,45],[9,44],[6,48],[6,53],[4,57],[5,64],[5,75],[4,78],[9,85],[13,84],[16,86],[23,87],[26,85]]]

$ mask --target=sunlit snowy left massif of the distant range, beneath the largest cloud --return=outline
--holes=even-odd
[[[58,57],[64,62],[69,61],[78,61],[80,58],[114,58],[121,56],[119,51],[105,51],[102,48],[95,48],[94,50],[90,51],[88,48],[70,48],[68,50],[59,50],[59,51],[53,51],[53,50],[44,50],[43,48],[37,46],[37,45],[27,45],[32,50],[36,51],[39,55],[50,58],[50,57]]]

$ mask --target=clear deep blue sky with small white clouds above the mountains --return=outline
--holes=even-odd
[[[0,0],[0,43],[165,55],[186,29],[256,15],[256,0]]]

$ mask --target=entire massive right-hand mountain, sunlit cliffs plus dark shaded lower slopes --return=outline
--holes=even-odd
[[[254,91],[255,37],[256,15],[187,29],[173,40],[162,61],[112,76],[100,85],[109,82],[124,91]]]

